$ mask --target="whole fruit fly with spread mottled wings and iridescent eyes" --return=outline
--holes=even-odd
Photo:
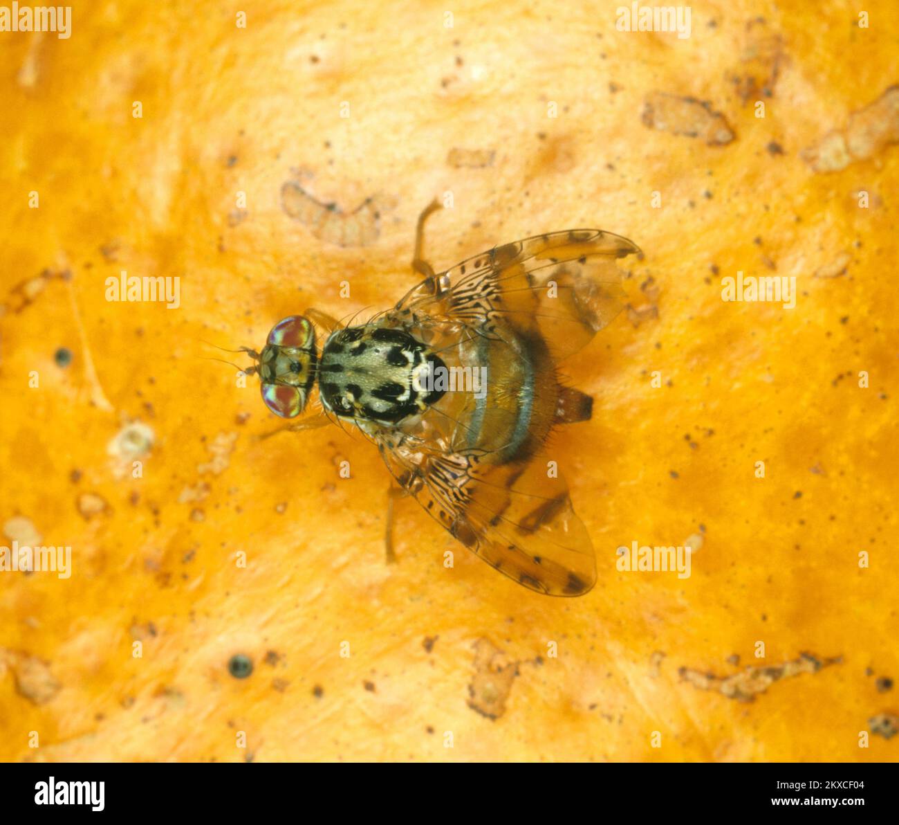
[[[316,309],[280,320],[247,372],[265,406],[304,417],[290,429],[349,422],[377,445],[396,485],[454,538],[524,587],[581,596],[596,581],[590,535],[574,514],[547,438],[588,420],[592,398],[558,364],[624,305],[616,261],[636,245],[568,229],[494,247],[435,273],[418,220],[413,268],[424,280],[368,322]],[[319,349],[316,327],[324,341]],[[315,399],[315,400],[314,400]]]

